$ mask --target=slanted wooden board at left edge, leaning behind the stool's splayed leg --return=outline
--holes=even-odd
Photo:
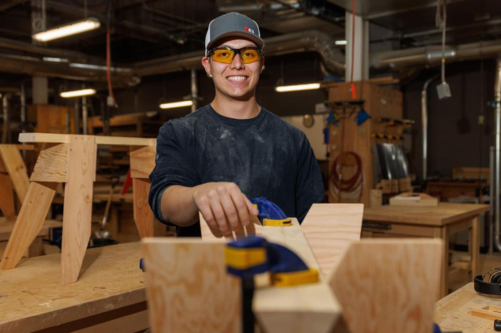
[[[0,156],[12,181],[14,191],[22,203],[30,185],[23,157],[14,145],[0,145]]]

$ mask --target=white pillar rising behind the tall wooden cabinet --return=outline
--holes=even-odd
[[[351,79],[351,47],[353,44],[353,15],[345,14],[345,39],[348,42],[345,49],[345,81]],[[355,16],[355,49],[353,56],[353,81],[369,79],[369,21],[362,16]]]

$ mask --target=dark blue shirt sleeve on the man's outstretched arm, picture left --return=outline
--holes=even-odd
[[[172,120],[160,128],[156,138],[155,167],[150,174],[148,203],[154,216],[167,225],[172,223],[162,216],[163,192],[172,185],[194,187],[200,183],[193,163],[193,147],[194,135],[187,128],[176,130]]]

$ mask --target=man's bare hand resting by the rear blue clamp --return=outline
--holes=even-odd
[[[259,214],[235,183],[198,185],[193,198],[215,236],[241,233],[250,224],[250,215]]]

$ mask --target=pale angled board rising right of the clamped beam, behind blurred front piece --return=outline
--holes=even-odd
[[[316,203],[306,214],[301,229],[324,277],[349,244],[360,240],[363,211],[362,204]]]

